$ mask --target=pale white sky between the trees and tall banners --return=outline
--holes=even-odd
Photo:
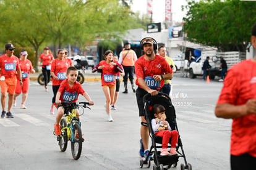
[[[173,12],[173,21],[182,22],[182,17],[185,17],[186,12],[182,12],[181,6],[187,5],[186,0],[172,0],[171,10]],[[147,13],[147,0],[134,0],[132,4],[134,12],[140,11],[143,14]],[[163,22],[165,18],[165,0],[153,0],[153,22]]]

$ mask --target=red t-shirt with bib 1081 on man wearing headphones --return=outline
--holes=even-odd
[[[166,62],[164,57],[156,54],[154,60],[148,61],[144,59],[144,55],[140,57],[135,62],[135,74],[136,74],[136,84],[139,86],[138,78],[143,78],[147,83],[148,87],[155,89],[157,87],[163,87],[164,79],[160,81],[160,84],[157,81],[154,81],[153,75],[164,75],[167,73],[173,73],[173,70]],[[140,86],[139,86],[140,87]]]

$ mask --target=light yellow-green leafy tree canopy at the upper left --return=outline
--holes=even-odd
[[[117,0],[1,0],[0,9],[1,42],[33,46],[34,65],[45,44],[56,50],[67,44],[85,47],[96,38],[121,39],[132,23],[130,7]]]

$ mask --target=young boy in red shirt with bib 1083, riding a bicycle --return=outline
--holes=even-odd
[[[61,102],[77,102],[79,94],[82,94],[85,99],[88,100],[89,105],[94,105],[94,102],[91,100],[90,96],[85,92],[76,80],[77,80],[78,71],[75,67],[67,68],[67,74],[59,90],[56,94],[55,103],[60,105]],[[76,118],[79,119],[79,110],[76,108]],[[61,118],[64,115],[64,108],[62,106],[58,107],[58,115],[56,116],[56,123],[54,124],[54,134],[57,136],[61,135]]]

